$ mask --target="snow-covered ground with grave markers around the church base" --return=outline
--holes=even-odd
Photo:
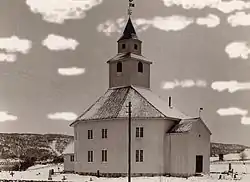
[[[225,179],[218,180],[219,174],[213,172],[223,172],[228,170],[229,162],[211,163],[211,175],[204,177],[190,177],[174,178],[174,177],[136,177],[132,178],[132,182],[226,182],[232,181],[232,177],[225,176]],[[242,162],[232,162],[232,168],[235,172],[239,173],[240,182],[250,182],[250,162],[245,165]],[[55,172],[63,171],[63,165],[36,165],[29,168],[27,171],[14,172],[13,177],[10,172],[0,172],[0,179],[27,179],[27,180],[48,180],[49,170],[54,169]],[[244,174],[247,173],[247,174]],[[62,181],[63,176],[66,177],[66,181],[72,182],[89,182],[92,179],[93,182],[127,182],[127,178],[96,178],[90,176],[81,176],[77,174],[55,174],[52,176],[52,180]]]

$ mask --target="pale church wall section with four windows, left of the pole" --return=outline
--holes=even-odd
[[[120,121],[90,121],[76,126],[77,163],[76,172],[121,173],[126,166],[123,158],[126,151],[126,122]],[[107,138],[102,138],[102,129],[108,129]],[[88,130],[93,130],[93,139],[88,139]],[[108,150],[108,162],[102,162],[102,150]],[[88,162],[88,151],[93,151],[93,162]]]

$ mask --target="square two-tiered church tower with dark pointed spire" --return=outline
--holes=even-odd
[[[142,56],[142,41],[128,18],[123,35],[117,41],[118,54],[110,59],[109,88],[138,86],[150,88],[150,62]]]

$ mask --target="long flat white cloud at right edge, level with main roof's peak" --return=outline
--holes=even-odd
[[[250,90],[250,82],[216,81],[212,83],[211,87],[218,92],[228,90],[228,92],[233,93],[239,90]]]

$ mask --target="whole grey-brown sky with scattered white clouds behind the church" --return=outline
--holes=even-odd
[[[250,146],[250,1],[135,0],[151,90],[201,117],[212,141]],[[0,132],[73,134],[108,89],[128,1],[0,1]]]

